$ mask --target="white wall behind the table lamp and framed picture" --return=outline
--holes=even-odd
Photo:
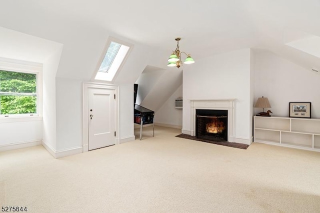
[[[271,116],[288,116],[289,102],[311,102],[311,117],[320,118],[318,73],[268,51],[256,51],[254,58],[254,102],[258,97],[267,97]]]

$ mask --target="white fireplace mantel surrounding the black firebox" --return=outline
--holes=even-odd
[[[195,136],[195,110],[196,109],[217,109],[228,111],[228,141],[234,142],[234,101],[236,98],[223,99],[190,99],[191,119],[190,134]]]

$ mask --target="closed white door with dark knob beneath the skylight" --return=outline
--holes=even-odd
[[[114,89],[88,88],[88,149],[115,144]]]

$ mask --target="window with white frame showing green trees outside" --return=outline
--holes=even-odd
[[[0,117],[39,115],[41,98],[38,79],[41,66],[2,59],[0,58]]]

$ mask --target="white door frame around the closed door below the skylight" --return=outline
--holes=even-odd
[[[119,127],[119,86],[114,84],[83,82],[82,83],[82,151],[89,150],[89,123],[88,123],[88,89],[89,88],[104,88],[114,89],[115,102],[114,102],[114,124],[115,124],[115,144],[120,143],[120,127]]]

